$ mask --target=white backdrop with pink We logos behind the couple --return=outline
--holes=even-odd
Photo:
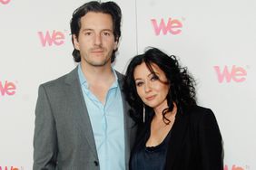
[[[30,170],[40,83],[75,67],[69,22],[83,0],[0,0],[0,170]],[[256,169],[256,1],[116,0],[114,68],[154,46],[178,56],[221,127],[225,170]]]

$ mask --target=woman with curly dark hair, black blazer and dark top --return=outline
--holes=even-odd
[[[123,89],[138,135],[131,170],[221,170],[222,136],[197,106],[194,80],[175,56],[151,48],[130,62]]]

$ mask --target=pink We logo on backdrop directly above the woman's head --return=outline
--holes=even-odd
[[[167,24],[164,23],[163,19],[161,19],[160,24],[157,24],[156,19],[152,19],[151,22],[156,35],[159,35],[161,31],[164,35],[168,32],[173,35],[182,33],[182,23],[177,19],[169,18]]]

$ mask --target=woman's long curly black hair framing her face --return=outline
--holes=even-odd
[[[143,100],[140,99],[133,77],[135,68],[145,62],[148,69],[154,74],[152,64],[156,64],[164,73],[170,84],[170,90],[167,94],[167,109],[162,111],[163,121],[168,124],[170,120],[165,118],[167,112],[172,111],[173,102],[177,109],[182,113],[184,107],[196,105],[195,81],[189,75],[187,68],[181,67],[175,56],[168,56],[157,48],[150,48],[146,52],[133,57],[125,73],[123,91],[126,99],[131,106],[130,116],[137,123],[143,123]],[[145,106],[146,120],[153,116],[153,109]]]

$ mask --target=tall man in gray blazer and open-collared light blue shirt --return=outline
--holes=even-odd
[[[39,87],[35,109],[34,170],[128,169],[135,129],[114,71],[121,9],[86,3],[71,20],[78,66]]]

